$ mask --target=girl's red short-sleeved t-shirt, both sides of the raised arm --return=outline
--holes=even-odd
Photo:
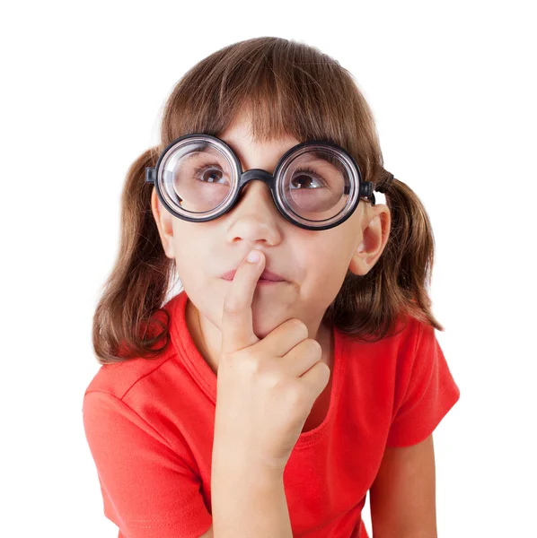
[[[164,306],[172,342],[162,357],[102,366],[84,394],[104,515],[119,538],[198,538],[212,523],[216,374],[189,335],[187,299],[180,291]],[[284,472],[293,535],[367,538],[361,512],[384,448],[427,438],[459,388],[434,327],[412,317],[378,343],[335,329],[331,375],[329,412],[300,435]]]

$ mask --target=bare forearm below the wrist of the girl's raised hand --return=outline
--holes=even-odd
[[[293,538],[283,473],[213,462],[215,538]]]

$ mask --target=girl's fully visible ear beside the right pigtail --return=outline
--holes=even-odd
[[[367,273],[383,254],[392,226],[390,209],[385,204],[370,206],[362,221],[366,225],[359,234],[357,247],[348,265],[349,271],[358,276]]]

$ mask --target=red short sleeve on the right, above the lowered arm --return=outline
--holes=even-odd
[[[426,439],[458,401],[455,384],[436,339],[435,327],[418,323],[416,350],[399,369],[394,415],[387,439],[388,447],[409,447]],[[401,390],[401,386],[406,386]]]

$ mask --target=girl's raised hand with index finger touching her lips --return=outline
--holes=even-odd
[[[297,318],[262,340],[254,334],[251,302],[265,267],[259,254],[257,264],[242,261],[224,299],[213,456],[283,473],[330,368]]]

